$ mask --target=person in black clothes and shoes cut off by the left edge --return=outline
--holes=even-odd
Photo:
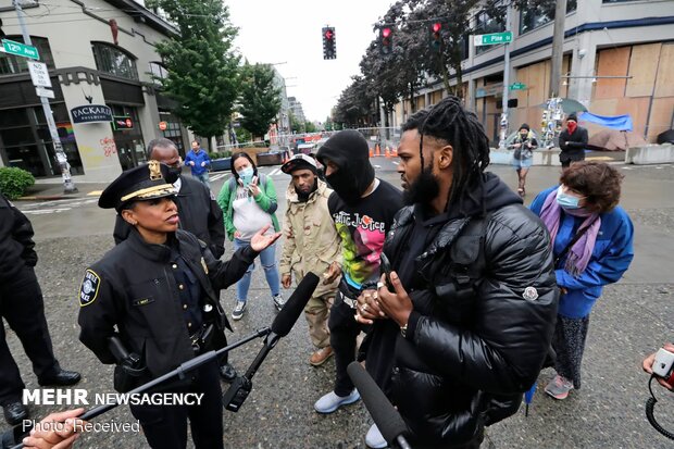
[[[34,247],[30,222],[0,194],[0,316],[16,333],[39,385],[75,385],[79,373],[62,370],[53,354]],[[21,403],[24,388],[0,323],[0,406],[11,425],[28,417]]]

